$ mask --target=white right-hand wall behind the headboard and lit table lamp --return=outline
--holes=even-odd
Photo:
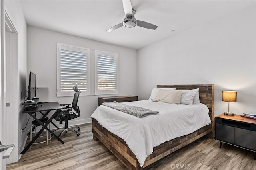
[[[236,114],[256,112],[255,6],[216,18],[138,50],[138,96],[157,84],[214,84],[214,113],[228,111],[222,90],[237,90]]]

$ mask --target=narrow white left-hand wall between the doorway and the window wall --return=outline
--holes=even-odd
[[[4,1],[4,8],[8,13],[10,20],[12,21],[16,31],[18,32],[18,98],[21,98],[22,89],[26,89],[26,78],[27,78],[27,25],[23,15],[22,7],[20,1]],[[26,125],[26,120],[28,119],[28,115],[22,113],[22,105],[19,100],[19,112],[13,113],[13,121],[18,122],[18,129],[5,129],[4,131],[9,135],[13,136],[14,141],[10,141],[10,143],[15,143],[16,147],[11,154],[10,160],[7,160],[7,163],[18,161],[19,150],[22,145],[22,141],[24,141],[26,134],[22,133],[20,135],[21,128],[24,128]],[[18,119],[18,121],[16,121]],[[8,120],[6,120],[8,121]],[[16,127],[16,126],[13,126]],[[18,142],[17,142],[18,141]],[[9,143],[7,143],[9,144]]]

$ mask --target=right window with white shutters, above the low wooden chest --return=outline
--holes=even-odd
[[[95,94],[118,94],[118,54],[95,50]]]

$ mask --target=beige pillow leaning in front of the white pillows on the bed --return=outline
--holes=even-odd
[[[180,104],[182,95],[181,90],[158,90],[156,97],[152,100],[154,102],[164,102],[171,104]]]

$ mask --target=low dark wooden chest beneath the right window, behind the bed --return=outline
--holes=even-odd
[[[138,96],[111,96],[111,97],[100,97],[98,98],[98,106],[104,102],[132,102],[137,101]]]

